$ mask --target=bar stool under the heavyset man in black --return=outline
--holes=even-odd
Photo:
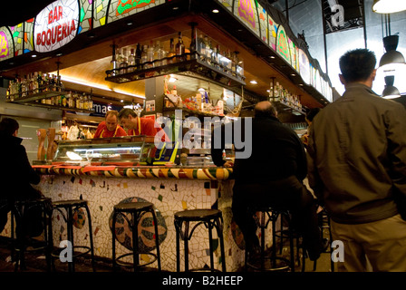
[[[260,228],[261,230],[261,241],[260,241],[260,247],[261,247],[261,255],[260,255],[260,262],[261,266],[259,270],[261,271],[292,271],[295,272],[295,246],[294,246],[294,232],[291,227],[291,218],[289,215],[289,212],[285,209],[275,209],[275,208],[269,208],[269,207],[256,207],[256,208],[249,208],[248,209],[250,212],[253,213],[253,216],[256,220],[256,226]],[[258,218],[256,216],[256,213],[260,213],[260,217]],[[288,229],[288,234],[287,238],[289,239],[289,244],[290,244],[290,259],[286,259],[283,256],[276,256],[276,220],[278,217],[281,218],[286,218],[289,229]],[[265,230],[268,227],[269,223],[272,222],[272,253],[271,256],[265,256]],[[265,267],[265,261],[266,259],[270,259],[271,261],[271,266],[269,268]],[[246,250],[246,256],[245,256],[245,264],[246,268],[252,267],[254,269],[258,269],[256,266],[253,266],[247,262],[247,250]],[[276,266],[276,260],[280,260],[283,262],[282,266]]]

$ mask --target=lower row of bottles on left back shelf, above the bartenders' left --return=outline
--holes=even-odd
[[[93,111],[92,96],[87,95],[85,92],[82,95],[78,92],[68,92],[51,98],[41,99],[39,102],[52,106]]]

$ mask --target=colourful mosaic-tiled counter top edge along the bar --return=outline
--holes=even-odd
[[[42,175],[104,176],[130,179],[233,179],[233,169],[221,167],[34,165],[33,168]]]

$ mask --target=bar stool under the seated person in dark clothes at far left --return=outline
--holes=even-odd
[[[53,247],[52,231],[52,201],[51,198],[33,198],[26,200],[16,200],[11,206],[11,237],[12,237],[12,257],[15,262],[14,271],[26,270],[24,254],[25,252],[43,251],[46,258],[47,271],[51,271]],[[43,223],[43,241],[36,240],[28,235],[28,224],[31,217],[27,217],[31,210],[40,210]],[[15,229],[14,229],[15,221]],[[14,232],[15,230],[15,232]],[[15,234],[15,238],[14,238]],[[17,255],[14,256],[14,253]]]

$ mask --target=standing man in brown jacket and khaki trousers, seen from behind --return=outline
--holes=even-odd
[[[345,93],[314,118],[309,183],[341,242],[339,271],[405,272],[406,221],[395,192],[406,201],[406,110],[372,92],[375,64],[367,49],[340,58]]]

